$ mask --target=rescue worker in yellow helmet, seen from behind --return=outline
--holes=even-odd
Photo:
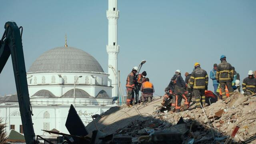
[[[196,108],[205,107],[205,90],[208,90],[208,75],[205,70],[200,67],[200,64],[196,62],[194,64],[195,70],[192,72],[189,79],[189,86],[193,88],[193,93],[196,99]]]

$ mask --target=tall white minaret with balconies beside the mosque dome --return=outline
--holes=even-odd
[[[117,43],[117,19],[119,17],[119,10],[117,10],[117,0],[108,0],[108,65],[112,65],[117,74],[117,54],[119,52],[119,45]],[[112,97],[118,96],[118,83],[116,76],[111,68],[108,68],[109,78],[112,80]]]

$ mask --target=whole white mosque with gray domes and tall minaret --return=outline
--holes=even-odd
[[[73,104],[84,125],[91,115],[106,112],[118,96],[117,72],[117,0],[108,0],[108,72],[87,52],[65,45],[41,54],[27,70],[27,82],[32,106],[32,122],[36,135],[42,130],[68,133],[65,127],[70,104]],[[115,71],[115,72],[114,72]],[[11,129],[23,133],[17,94],[0,97],[0,117]]]

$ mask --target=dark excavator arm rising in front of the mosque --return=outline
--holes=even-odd
[[[22,49],[22,39],[20,28],[15,22],[6,22],[5,31],[0,40],[0,73],[6,64],[9,56],[12,56],[12,66],[14,71],[20,116],[26,144],[37,144],[31,117],[31,105],[28,94],[28,83],[26,79],[26,68]]]

